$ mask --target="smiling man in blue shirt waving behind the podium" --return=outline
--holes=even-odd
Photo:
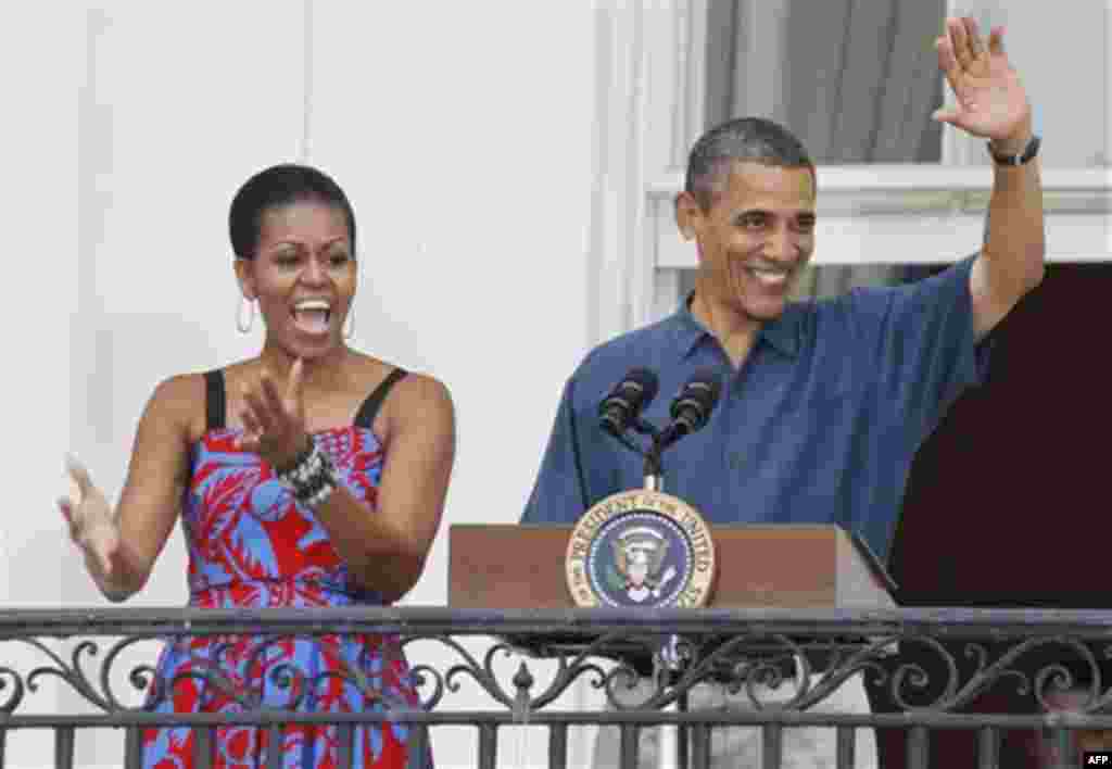
[[[768,120],[714,128],[676,198],[679,230],[698,248],[695,290],[673,316],[592,351],[568,379],[523,522],[573,523],[643,485],[642,460],[597,416],[631,368],[658,374],[664,396],[645,417],[661,424],[672,394],[709,367],[719,403],[665,453],[665,491],[712,523],[836,523],[886,558],[916,450],[981,381],[979,343],[1043,276],[1025,90],[1001,30],[985,42],[971,19],[946,26],[939,60],[957,106],[935,118],[989,139],[996,161],[980,253],[916,284],[791,303],[815,248],[814,165]]]

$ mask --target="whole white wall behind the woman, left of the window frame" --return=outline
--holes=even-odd
[[[227,207],[279,161],[307,159],[351,197],[356,345],[435,374],[456,402],[445,526],[406,603],[445,602],[450,523],[519,516],[588,338],[592,4],[310,8],[308,67],[304,2],[0,10],[6,70],[28,76],[6,79],[19,183],[6,185],[0,605],[103,605],[53,506],[62,454],[115,497],[156,383],[258,349],[257,331],[235,329]],[[131,605],[183,603],[180,536]],[[73,699],[30,706],[56,707]],[[38,737],[9,736],[9,758],[49,756]],[[79,763],[118,760],[116,735],[79,742]],[[464,756],[451,735],[435,747],[441,767]]]

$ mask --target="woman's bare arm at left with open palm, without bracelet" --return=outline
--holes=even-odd
[[[195,376],[177,376],[155,390],[139,421],[115,512],[88,471],[71,462],[81,499],[59,505],[90,575],[110,601],[127,600],[147,583],[178,517],[189,477],[189,414],[200,387]]]

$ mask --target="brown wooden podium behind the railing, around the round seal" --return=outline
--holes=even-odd
[[[716,609],[895,608],[895,584],[860,536],[835,525],[712,526]],[[448,605],[574,609],[564,571],[572,526],[455,524]]]

